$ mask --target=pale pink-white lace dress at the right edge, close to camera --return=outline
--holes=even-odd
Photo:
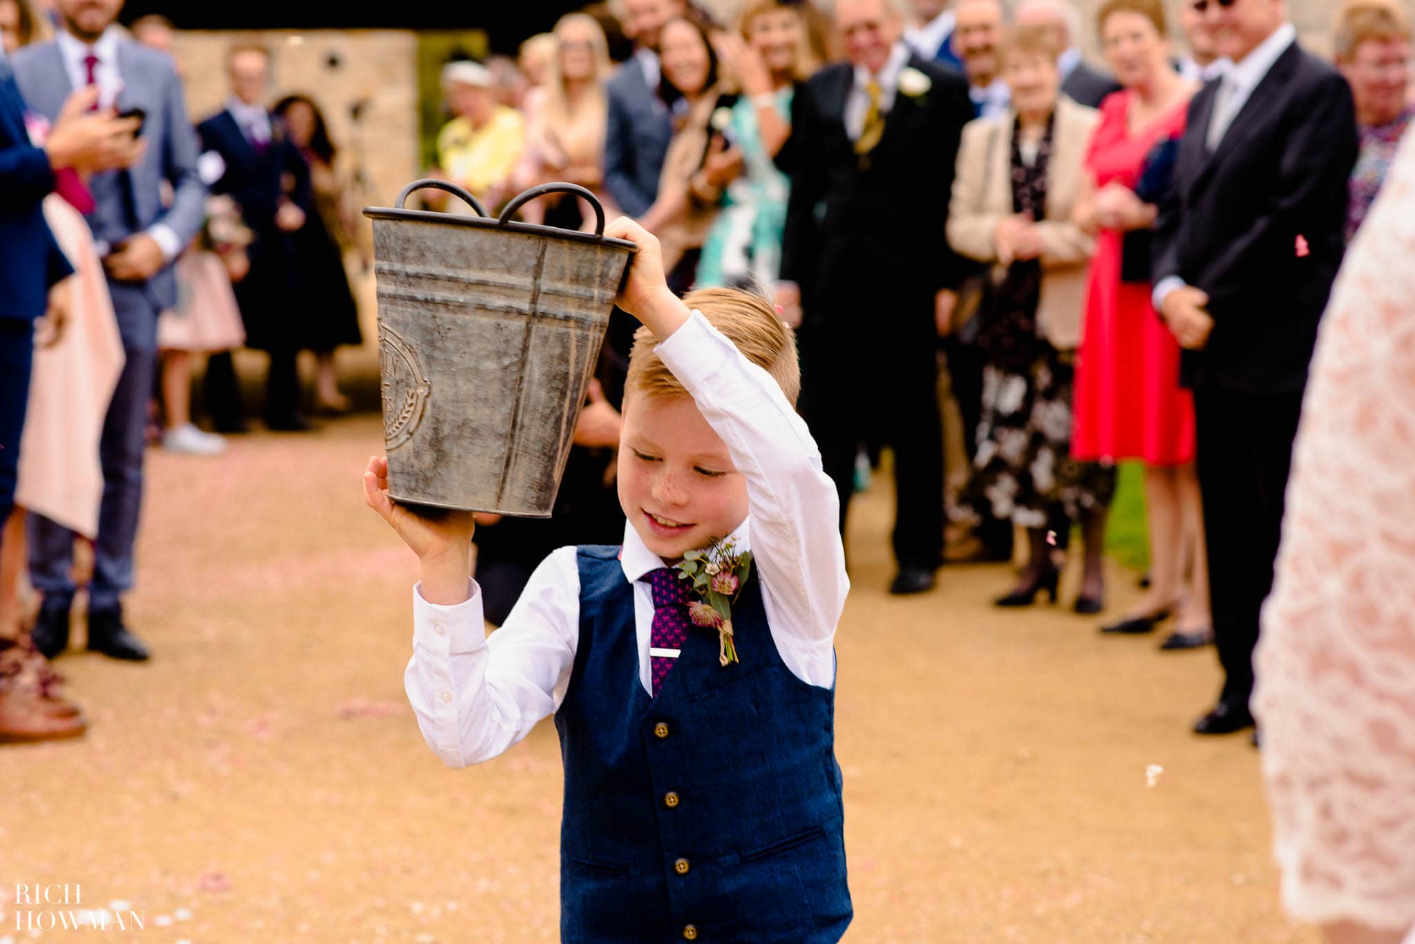
[[[1415,137],[1322,326],[1254,706],[1300,920],[1415,924]],[[1415,941],[1415,933],[1408,941]]]

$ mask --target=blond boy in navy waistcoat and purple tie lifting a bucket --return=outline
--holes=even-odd
[[[849,580],[835,485],[791,406],[795,341],[756,296],[679,300],[633,221],[606,235],[638,245],[620,306],[644,323],[618,454],[624,545],[556,551],[484,638],[471,514],[392,504],[386,460],[369,460],[365,500],[422,563],[408,696],[451,767],[555,713],[563,941],[838,941],[852,907],[832,643]],[[750,546],[751,569],[723,664],[675,565],[726,539]]]

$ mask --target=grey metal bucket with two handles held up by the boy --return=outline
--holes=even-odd
[[[415,190],[474,217],[403,209]],[[594,234],[511,222],[570,192]],[[604,238],[604,208],[574,184],[533,187],[501,218],[440,180],[366,207],[378,275],[388,491],[399,502],[548,518],[634,243]]]

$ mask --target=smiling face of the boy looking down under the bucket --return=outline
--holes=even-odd
[[[747,517],[747,483],[689,396],[624,401],[618,495],[644,545],[672,563]]]

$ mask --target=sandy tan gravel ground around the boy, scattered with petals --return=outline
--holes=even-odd
[[[127,607],[156,655],[71,652],[89,735],[0,749],[0,944],[30,940],[14,883],[78,885],[151,944],[556,940],[555,730],[470,770],[423,744],[415,560],[359,495],[379,442],[364,416],[151,454]],[[889,514],[859,502],[838,638],[846,940],[1315,943],[1278,906],[1257,752],[1187,733],[1213,651],[996,611],[1003,566],[889,597]]]

